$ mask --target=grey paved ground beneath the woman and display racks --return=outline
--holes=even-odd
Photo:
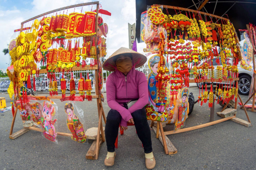
[[[189,90],[197,99],[198,88],[192,87]],[[0,94],[0,97],[6,97],[6,104],[10,105],[8,94]],[[244,102],[248,99],[248,96],[241,97]],[[60,100],[54,100],[54,102],[59,108],[58,131],[69,132],[64,112],[65,103]],[[96,100],[77,103],[85,112],[85,126],[87,128],[97,127]],[[107,114],[110,108],[107,103],[103,103],[103,106]],[[215,112],[221,109],[220,105],[215,105]],[[209,122],[209,114],[210,110],[206,104],[202,107],[196,104],[185,127]],[[153,152],[157,161],[154,169],[256,169],[256,131],[254,128],[256,113],[248,111],[248,115],[252,122],[251,127],[228,120],[202,129],[168,135],[178,150],[178,153],[174,155],[165,155],[162,144],[155,138],[155,133],[151,129]],[[237,117],[246,120],[244,110],[238,109]],[[215,120],[218,119],[219,117],[215,115]],[[115,165],[106,167],[104,165],[107,153],[106,143],[101,146],[98,160],[87,160],[85,154],[90,148],[91,141],[89,144],[80,144],[69,137],[58,136],[58,144],[55,144],[43,138],[37,131],[29,131],[11,140],[9,139],[11,121],[11,111],[0,113],[0,170],[146,169],[143,148],[134,126],[129,126],[128,131],[125,131],[123,136],[119,136]],[[21,118],[17,116],[14,132],[21,128]],[[164,131],[168,130],[173,130],[173,125],[164,127]]]

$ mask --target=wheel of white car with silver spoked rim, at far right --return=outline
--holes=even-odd
[[[238,82],[238,93],[242,95],[248,95],[251,87],[251,77],[243,75],[239,78],[240,80]]]

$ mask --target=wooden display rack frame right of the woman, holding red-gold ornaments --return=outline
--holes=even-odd
[[[200,12],[200,11],[193,11],[191,9],[187,9],[187,8],[180,8],[180,7],[175,7],[175,6],[168,6],[168,5],[158,5],[158,6],[164,6],[165,8],[169,8],[169,9],[180,9],[182,11],[189,11],[189,12],[194,12],[194,13],[199,13],[199,14],[202,14],[202,15],[207,15],[207,16],[210,16],[210,17],[215,17],[215,18],[219,18],[219,19],[222,19],[222,20],[229,20],[227,18],[223,18],[223,17],[219,17],[217,15],[212,15],[212,14],[208,14],[208,13],[205,13],[205,12]],[[237,38],[237,37],[236,37]],[[253,58],[253,61],[254,61],[254,58]],[[236,87],[238,85],[238,81],[239,81],[239,78],[234,78],[233,81],[235,81],[236,83]],[[183,80],[184,82],[184,80]],[[194,79],[189,79],[189,83],[195,83],[196,81]],[[212,82],[211,79],[206,79],[206,80],[202,80],[202,81],[197,81],[197,82]],[[213,82],[212,82],[213,84]],[[255,84],[254,84],[254,93],[255,93]],[[255,95],[252,95],[251,97],[255,97]],[[250,97],[250,98],[251,98]],[[242,99],[241,97],[239,96],[238,94],[238,98],[240,100],[240,102],[242,103],[242,107],[245,109],[244,107],[244,104],[242,102]],[[249,99],[250,100],[250,99]],[[235,102],[235,109],[237,109],[237,101]],[[248,102],[248,101],[247,101]],[[227,107],[227,105],[229,104],[229,102],[226,103],[226,105],[224,106],[224,108],[222,109],[222,111],[224,111],[224,109]],[[254,106],[254,104],[253,104]],[[248,121],[245,121],[245,120],[242,120],[242,119],[239,119],[236,117],[236,115],[233,115],[231,117],[226,117],[226,118],[222,118],[220,120],[215,120],[214,121],[214,102],[213,102],[213,105],[212,107],[210,108],[210,122],[209,123],[205,123],[205,124],[200,124],[198,126],[192,126],[192,127],[187,127],[187,128],[183,128],[183,129],[178,129],[177,131],[167,131],[167,132],[164,132],[163,131],[163,126],[162,126],[162,123],[157,121],[157,127],[153,127],[153,123],[154,121],[151,121],[151,125],[150,127],[153,128],[153,130],[155,131],[156,133],[156,138],[159,138],[159,140],[161,141],[161,143],[163,144],[163,147],[164,147],[164,150],[165,150],[165,153],[168,154],[168,155],[171,155],[171,154],[174,154],[174,153],[177,153],[177,149],[174,147],[174,145],[171,143],[171,141],[169,140],[168,137],[166,137],[166,135],[171,135],[171,134],[177,134],[177,133],[181,133],[181,132],[187,132],[187,131],[192,131],[192,130],[195,130],[195,129],[200,129],[202,127],[207,127],[207,126],[211,126],[213,124],[217,124],[217,123],[221,123],[223,121],[227,121],[227,120],[232,120],[232,121],[235,121],[236,123],[239,123],[239,124],[242,124],[244,126],[249,126],[251,124],[251,121],[249,119],[249,116],[247,114],[247,111],[246,109],[244,110],[245,111],[245,115],[247,117],[247,120]]]

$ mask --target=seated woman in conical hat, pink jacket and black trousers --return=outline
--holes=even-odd
[[[121,47],[103,63],[105,70],[114,71],[107,79],[107,102],[111,108],[105,126],[108,153],[104,163],[107,166],[114,165],[116,156],[114,144],[119,124],[123,130],[126,130],[129,122],[135,125],[137,135],[142,141],[146,167],[148,169],[155,167],[151,132],[144,108],[148,103],[148,82],[145,74],[135,70],[146,61],[144,55]]]

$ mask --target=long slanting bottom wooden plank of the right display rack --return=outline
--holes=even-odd
[[[207,126],[211,126],[213,124],[221,123],[222,121],[230,120],[234,117],[236,117],[236,116],[230,116],[230,117],[222,118],[222,119],[215,120],[215,121],[212,121],[212,122],[209,122],[209,123],[200,124],[198,126],[187,127],[187,128],[184,128],[184,129],[178,129],[177,131],[168,131],[168,132],[165,132],[165,135],[178,134],[178,133],[181,133],[181,132],[187,132],[187,131],[192,131],[192,130],[195,130],[195,129],[200,129],[202,127],[207,127]]]

